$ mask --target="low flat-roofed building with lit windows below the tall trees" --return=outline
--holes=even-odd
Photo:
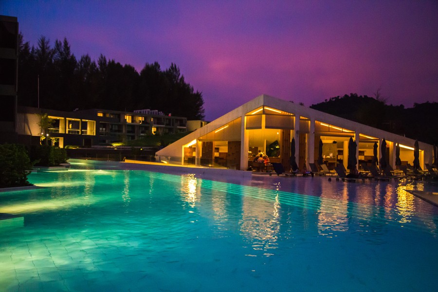
[[[42,133],[40,116],[52,120],[47,133]],[[39,143],[41,135],[52,144],[71,146],[108,146],[137,140],[146,135],[164,135],[186,131],[187,119],[166,116],[157,110],[135,112],[117,110],[76,110],[72,112],[19,107],[17,132],[24,144]]]

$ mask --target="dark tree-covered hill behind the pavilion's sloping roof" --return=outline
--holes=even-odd
[[[413,108],[405,109],[403,105],[387,105],[379,92],[376,98],[351,93],[326,99],[310,108],[438,145],[437,102],[414,103]]]

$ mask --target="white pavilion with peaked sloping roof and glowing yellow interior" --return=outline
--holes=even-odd
[[[260,95],[239,108],[188,134],[175,143],[157,151],[158,160],[178,164],[223,166],[247,169],[258,151],[267,154],[271,162],[282,163],[290,169],[291,142],[295,142],[295,158],[299,169],[310,169],[317,161],[322,143],[324,160],[333,168],[347,167],[348,140],[356,144],[355,156],[359,164],[371,162],[374,144],[382,156],[394,166],[396,145],[400,146],[402,163],[414,159],[415,141],[400,135],[352,122],[325,112],[306,108]],[[420,166],[432,163],[433,146],[419,142]]]

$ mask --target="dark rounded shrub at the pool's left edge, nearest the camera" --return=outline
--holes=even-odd
[[[32,169],[26,149],[22,145],[0,145],[0,187],[31,185],[27,175]]]

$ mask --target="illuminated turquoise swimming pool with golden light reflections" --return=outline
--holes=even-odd
[[[232,180],[232,178],[231,178]],[[433,291],[438,208],[404,189],[142,170],[37,172],[0,193],[1,291]],[[0,223],[1,224],[1,223]]]

